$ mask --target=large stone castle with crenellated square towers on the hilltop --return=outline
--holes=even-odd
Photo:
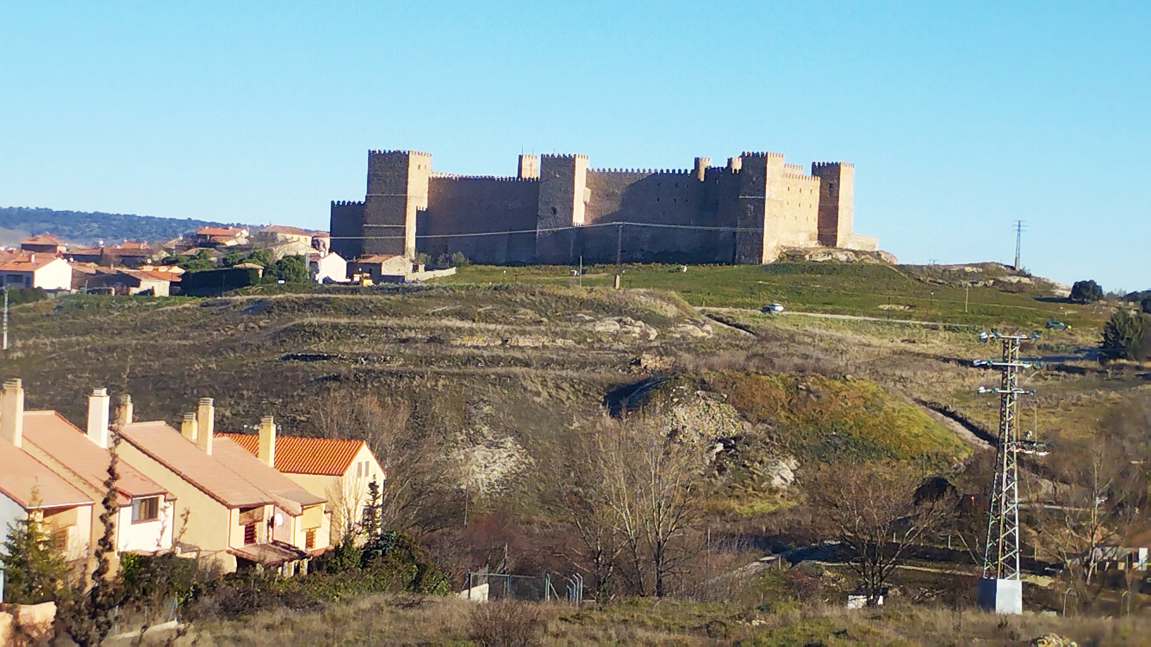
[[[346,259],[462,252],[491,265],[763,264],[784,248],[875,250],[852,233],[855,168],[780,153],[684,170],[589,168],[587,155],[519,155],[514,177],[433,173],[432,155],[368,151],[364,201],[331,203]]]

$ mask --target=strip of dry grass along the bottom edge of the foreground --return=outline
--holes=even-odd
[[[517,617],[509,619],[509,609]],[[524,622],[535,616],[535,622]],[[483,619],[477,622],[478,617]],[[513,623],[511,621],[514,621]],[[478,630],[514,624],[525,641],[488,641]],[[511,623],[511,624],[509,624]],[[535,629],[531,629],[533,626]],[[528,629],[524,629],[528,627]],[[275,612],[195,626],[190,638],[216,645],[992,645],[1023,644],[1047,633],[1080,645],[1151,644],[1151,618],[1000,617],[974,609],[891,604],[847,610],[822,603],[775,612],[735,603],[630,600],[576,610],[566,604],[477,608],[456,599],[365,597],[321,612]]]

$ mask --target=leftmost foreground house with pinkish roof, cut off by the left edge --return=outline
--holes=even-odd
[[[91,496],[24,450],[24,389],[8,380],[0,391],[0,530],[32,517],[69,560],[89,554]]]

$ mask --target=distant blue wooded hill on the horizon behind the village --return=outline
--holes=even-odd
[[[178,220],[124,213],[0,207],[0,228],[24,234],[53,234],[68,243],[89,245],[101,239],[105,242],[166,241],[199,229],[205,224],[223,223],[190,218]]]

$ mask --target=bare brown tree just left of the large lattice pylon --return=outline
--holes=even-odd
[[[847,550],[869,604],[878,601],[912,546],[955,508],[954,488],[943,479],[923,479],[906,464],[824,465],[808,481],[817,519]]]

